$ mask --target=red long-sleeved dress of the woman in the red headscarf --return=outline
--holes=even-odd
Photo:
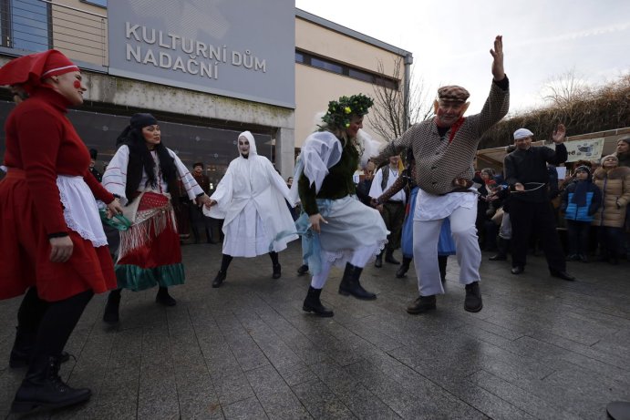
[[[47,302],[116,287],[108,247],[70,230],[64,220],[57,175],[82,176],[94,195],[114,197],[88,171],[89,152],[66,117],[67,100],[39,87],[9,115],[5,125],[5,165],[0,181],[0,299],[36,285]],[[73,242],[66,262],[51,262],[48,235],[66,232]]]

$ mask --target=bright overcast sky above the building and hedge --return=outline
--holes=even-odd
[[[398,46],[431,95],[470,90],[479,111],[491,84],[490,48],[503,36],[511,112],[542,104],[542,88],[573,71],[593,85],[630,72],[627,0],[296,0],[295,6]]]

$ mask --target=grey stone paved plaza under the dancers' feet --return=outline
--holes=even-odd
[[[413,270],[368,266],[374,302],[337,294],[334,270],[322,293],[333,318],[302,311],[309,277],[298,277],[299,241],[280,254],[234,259],[220,289],[210,283],[220,245],[182,248],[187,282],[177,306],[156,290],[123,292],[121,323],[101,322],[96,296],[67,344],[63,365],[88,404],[28,415],[54,419],[605,419],[630,400],[630,264],[569,263],[578,282],[548,275],[542,257],[526,272],[481,265],[483,310],[463,310],[458,265],[449,259],[438,310],[409,315]],[[397,252],[397,256],[399,252]],[[24,370],[8,367],[20,299],[0,302],[0,414]],[[16,418],[9,415],[7,418]]]

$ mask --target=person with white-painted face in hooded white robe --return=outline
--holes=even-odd
[[[293,231],[294,220],[284,199],[289,189],[269,159],[258,155],[252,133],[243,131],[238,138],[240,156],[233,159],[211,197],[207,216],[223,221],[223,258],[212,287],[225,281],[233,257],[256,257],[269,253],[274,279],[280,278],[278,252],[297,235],[276,241],[282,231]],[[289,200],[292,204],[294,201]]]

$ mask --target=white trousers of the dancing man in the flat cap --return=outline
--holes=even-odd
[[[480,280],[481,251],[475,228],[476,219],[477,206],[471,209],[458,207],[449,216],[457,261],[460,264],[461,284]],[[443,219],[413,222],[413,258],[421,296],[444,294],[438,265],[438,240],[442,221]]]

